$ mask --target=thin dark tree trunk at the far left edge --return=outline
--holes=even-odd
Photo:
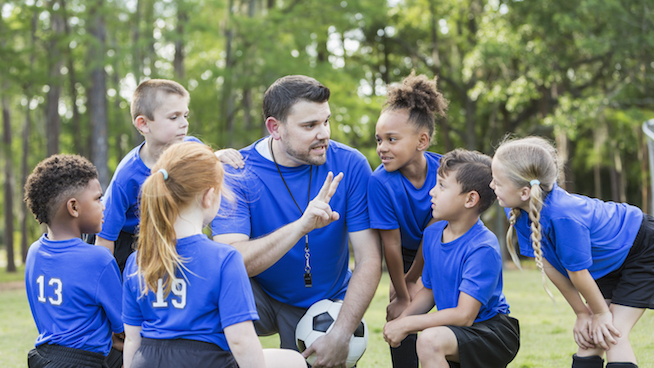
[[[3,91],[7,91],[7,84],[3,83]],[[9,114],[9,98],[6,93],[2,95],[2,125],[3,125],[3,153],[5,156],[5,245],[7,247],[7,272],[16,272],[14,263],[14,172],[11,154],[11,121]]]

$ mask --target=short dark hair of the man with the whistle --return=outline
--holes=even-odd
[[[287,75],[273,83],[263,95],[263,119],[274,117],[285,122],[299,101],[323,103],[329,100],[329,88],[306,75]]]

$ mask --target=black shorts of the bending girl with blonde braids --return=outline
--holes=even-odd
[[[654,309],[654,217],[644,214],[636,240],[620,268],[596,280],[612,304]]]

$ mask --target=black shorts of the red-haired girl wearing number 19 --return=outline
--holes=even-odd
[[[234,355],[216,344],[196,340],[141,339],[134,368],[238,368]]]

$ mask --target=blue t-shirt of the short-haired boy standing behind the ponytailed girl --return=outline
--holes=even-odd
[[[202,143],[191,136],[184,137],[184,142]],[[144,144],[141,143],[123,157],[102,197],[104,224],[98,236],[103,239],[116,241],[121,230],[130,234],[137,232],[139,194],[145,179],[150,176],[150,168],[145,166],[139,155]]]

